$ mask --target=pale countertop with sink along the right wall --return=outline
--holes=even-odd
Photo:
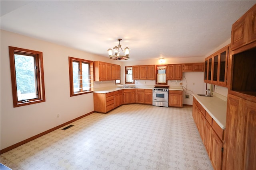
[[[193,96],[212,116],[212,119],[214,119],[222,129],[226,129],[227,102],[216,96],[204,97],[198,96],[197,94],[193,94]]]

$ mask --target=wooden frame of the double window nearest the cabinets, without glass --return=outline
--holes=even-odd
[[[75,62],[79,62],[79,63],[87,63],[89,64],[89,88],[90,90],[88,91],[82,91],[82,92],[76,92],[74,93],[74,84],[73,84],[73,61]],[[79,67],[82,67],[82,64],[79,64]],[[92,93],[94,90],[94,79],[93,79],[93,61],[90,60],[85,60],[85,59],[78,59],[78,58],[74,58],[74,57],[68,57],[68,68],[69,68],[69,86],[70,86],[70,97],[72,96],[78,96],[81,94],[88,94],[88,93]]]

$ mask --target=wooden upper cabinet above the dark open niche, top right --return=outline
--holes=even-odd
[[[231,51],[254,41],[256,41],[256,5],[232,25]]]

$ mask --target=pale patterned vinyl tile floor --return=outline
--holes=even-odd
[[[71,124],[1,154],[1,163],[13,170],[213,169],[190,106],[122,105]]]

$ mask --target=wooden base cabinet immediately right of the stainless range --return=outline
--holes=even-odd
[[[169,90],[168,106],[183,107],[182,92],[180,90]]]

